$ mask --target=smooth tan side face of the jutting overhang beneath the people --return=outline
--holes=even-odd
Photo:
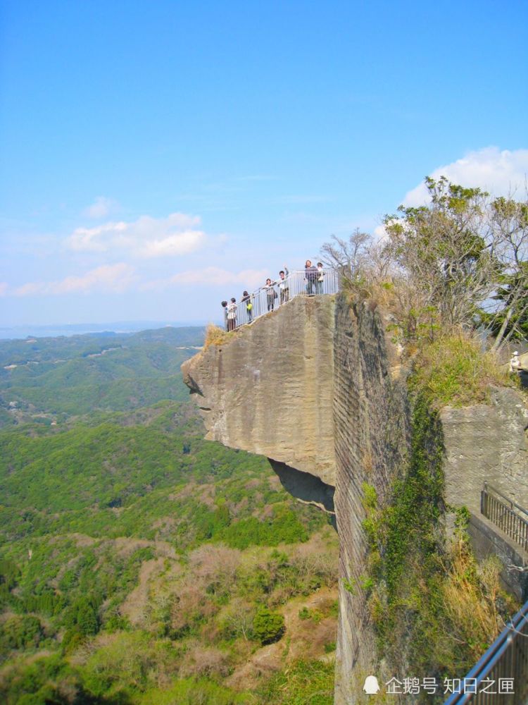
[[[207,436],[335,485],[334,298],[301,297],[182,364]]]

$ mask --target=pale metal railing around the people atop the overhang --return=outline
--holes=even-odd
[[[322,281],[320,281],[322,279]],[[249,295],[249,299],[237,302],[234,324],[228,327],[228,309],[225,310],[225,324],[228,330],[253,323],[267,313],[284,306],[296,296],[336,294],[339,291],[339,276],[335,269],[306,274],[305,271],[290,271],[284,279],[273,281],[271,286],[261,286]],[[251,307],[248,307],[248,303]]]

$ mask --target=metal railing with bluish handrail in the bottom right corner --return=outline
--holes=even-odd
[[[528,703],[528,602],[517,612],[444,705]]]

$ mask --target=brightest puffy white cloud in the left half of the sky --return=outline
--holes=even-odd
[[[184,213],[167,218],[141,216],[137,221],[108,222],[95,228],[77,228],[66,240],[72,250],[109,252],[124,250],[133,257],[175,257],[203,247],[206,234],[196,229],[201,219]]]

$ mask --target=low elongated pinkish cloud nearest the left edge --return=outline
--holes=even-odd
[[[82,276],[59,281],[30,281],[13,290],[15,296],[64,295],[72,293],[122,293],[135,281],[134,267],[125,262],[103,264]]]

